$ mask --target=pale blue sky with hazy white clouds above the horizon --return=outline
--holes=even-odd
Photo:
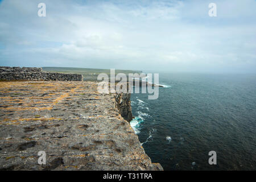
[[[255,0],[0,0],[0,66],[256,73],[255,9]]]

